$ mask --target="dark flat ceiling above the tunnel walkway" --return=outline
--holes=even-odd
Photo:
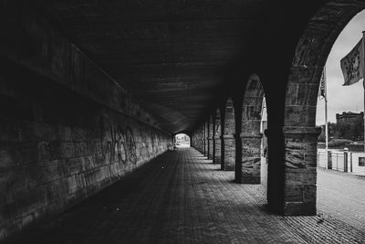
[[[193,129],[224,95],[220,74],[245,55],[268,2],[54,0],[37,8],[175,133]]]

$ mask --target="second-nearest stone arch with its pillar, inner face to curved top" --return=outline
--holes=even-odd
[[[263,130],[266,127],[262,120],[263,108],[264,89],[258,75],[253,74],[245,85],[242,103],[240,133],[242,157],[241,162],[235,165],[235,182],[237,183],[261,184],[261,169],[265,167],[263,173],[267,172],[267,146],[263,143]],[[265,178],[266,175],[263,178],[266,182]]]

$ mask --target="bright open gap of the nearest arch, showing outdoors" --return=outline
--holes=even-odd
[[[322,129],[317,151],[317,207],[349,224],[363,221],[362,203],[365,195],[358,195],[362,185],[357,175],[365,175],[364,159],[364,88],[362,80],[343,86],[345,79],[340,67],[341,58],[361,43],[365,30],[365,11],[354,16],[336,39],[326,61],[326,69],[319,85],[316,124]],[[348,56],[357,62],[354,56]],[[360,59],[359,68],[364,66]],[[324,79],[323,79],[324,78]],[[327,81],[327,82],[326,82]],[[356,80],[355,80],[356,81]],[[323,84],[323,85],[322,85]],[[325,92],[327,91],[327,92]],[[326,104],[327,103],[327,104]],[[327,116],[326,116],[327,105]],[[328,136],[326,138],[326,117]],[[327,139],[327,140],[326,140]],[[326,141],[328,147],[326,147]],[[336,174],[336,175],[335,175]],[[343,190],[346,187],[346,191]],[[353,199],[358,201],[353,201]],[[336,202],[337,204],[332,204]],[[349,211],[350,207],[350,211]],[[350,217],[349,222],[344,216]]]

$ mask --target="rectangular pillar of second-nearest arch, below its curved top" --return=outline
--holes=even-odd
[[[244,184],[261,183],[261,140],[262,133],[241,133],[242,161],[235,181]]]

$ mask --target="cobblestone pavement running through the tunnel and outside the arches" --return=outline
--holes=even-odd
[[[362,179],[319,170],[318,216],[280,217],[266,212],[265,184],[219,167],[191,148],[162,154],[15,242],[365,243]]]

